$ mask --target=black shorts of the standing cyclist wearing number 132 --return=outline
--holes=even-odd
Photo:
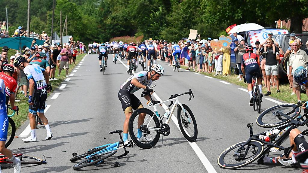
[[[40,90],[34,89],[34,95],[32,96],[33,105],[29,105],[29,113],[33,115],[36,115],[37,112],[44,113],[46,99],[47,99],[46,88]]]

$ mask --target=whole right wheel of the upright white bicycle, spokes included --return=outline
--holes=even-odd
[[[177,122],[179,123],[180,130],[184,137],[189,142],[195,142],[198,136],[198,128],[195,116],[189,107],[185,104],[182,104],[186,112],[182,109],[181,106],[177,109]]]

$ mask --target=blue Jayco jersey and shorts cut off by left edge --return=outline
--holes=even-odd
[[[6,112],[6,96],[5,96],[5,84],[3,79],[0,79],[0,141],[6,141],[7,129],[9,126],[9,119]]]

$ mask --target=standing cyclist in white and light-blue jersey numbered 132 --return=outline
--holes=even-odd
[[[15,58],[14,66],[20,70],[23,70],[29,80],[28,117],[30,120],[31,135],[22,140],[25,142],[36,142],[35,116],[37,115],[37,112],[47,131],[47,136],[45,139],[50,140],[52,138],[52,134],[48,119],[44,115],[47,93],[52,90],[51,85],[49,85],[49,74],[38,64],[29,64],[26,58],[22,56]]]

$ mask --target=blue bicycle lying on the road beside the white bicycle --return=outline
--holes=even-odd
[[[116,143],[108,143],[106,145],[102,145],[99,147],[95,147],[92,148],[90,150],[88,150],[87,152],[81,154],[81,155],[77,155],[77,153],[73,153],[72,155],[74,156],[73,158],[70,159],[71,162],[74,162],[76,160],[82,159],[82,158],[86,158],[84,160],[82,160],[81,162],[75,164],[73,166],[74,169],[80,169],[82,167],[86,167],[86,166],[90,166],[90,165],[98,165],[98,164],[104,164],[104,159],[107,159],[108,157],[114,155],[118,149],[120,148],[124,148],[124,154],[119,155],[117,158],[121,158],[126,156],[129,151],[126,150],[126,147],[133,146],[132,141],[126,145],[124,145],[124,141],[122,139],[122,130],[116,130],[116,131],[111,131],[109,132],[109,134],[113,134],[113,133],[118,133],[120,135],[120,139],[121,141],[116,142]],[[118,167],[119,163],[116,162],[115,163],[115,167]]]

